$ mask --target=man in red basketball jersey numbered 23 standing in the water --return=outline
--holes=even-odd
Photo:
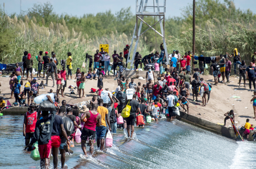
[[[24,114],[24,122],[23,122],[23,136],[25,136],[25,144],[28,145],[30,138],[34,136],[36,121],[39,120],[37,112],[36,112],[36,104],[31,103],[30,111]]]

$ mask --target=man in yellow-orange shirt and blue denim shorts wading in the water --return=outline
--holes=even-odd
[[[109,126],[109,131],[111,131],[111,128],[110,128],[110,121],[108,116],[108,109],[106,108],[107,103],[103,104],[103,99],[99,99],[98,105],[99,106],[98,106],[97,112],[101,115],[101,125],[100,127],[96,126],[97,147],[100,147],[100,151],[102,151],[103,145],[104,145],[104,139],[107,131],[106,120]],[[106,117],[106,120],[105,120],[105,117]]]

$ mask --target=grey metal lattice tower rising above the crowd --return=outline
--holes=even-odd
[[[139,37],[143,33],[147,32],[149,29],[152,29],[153,31],[156,32],[156,34],[160,35],[163,38],[163,43],[164,43],[163,45],[164,45],[164,52],[165,52],[165,56],[166,56],[166,61],[169,63],[168,52],[167,52],[166,42],[165,42],[165,33],[164,33],[165,32],[165,30],[164,30],[164,16],[165,16],[166,0],[163,0],[163,1],[164,1],[163,6],[159,6],[159,0],[153,0],[154,5],[153,6],[148,6],[148,0],[145,0],[145,3],[144,3],[144,0],[140,0],[140,4],[138,4],[138,0],[136,0],[136,23],[135,23],[135,26],[134,26],[134,31],[133,31],[133,35],[132,35],[131,47],[130,47],[130,50],[129,50],[128,58],[130,58],[130,55],[131,55],[131,48],[132,48],[132,44],[133,44],[134,39],[136,39],[136,43],[135,43],[133,54],[132,54],[132,60],[130,60],[130,59],[127,60],[127,63],[131,62],[131,68],[133,66],[134,57],[135,57],[138,42],[139,42]],[[152,8],[154,9],[154,12],[147,12],[146,11],[147,9],[150,10]],[[155,11],[155,8],[156,8],[156,11]],[[143,20],[144,16],[154,16],[154,17],[158,16],[159,20],[154,25],[150,26],[146,21]],[[138,21],[140,21],[139,28],[138,28]],[[145,30],[143,33],[140,33],[143,23],[148,26],[148,29]],[[153,28],[153,26],[155,26],[157,23],[160,24],[161,33],[159,33],[156,29]]]

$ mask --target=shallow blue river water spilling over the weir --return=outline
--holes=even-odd
[[[23,118],[0,117],[0,168],[40,168],[40,161],[23,150]],[[256,168],[256,142],[235,142],[178,120],[152,122],[144,129],[135,127],[135,133],[135,138],[129,139],[123,130],[117,130],[114,146],[107,152],[96,151],[93,157],[84,157],[81,144],[75,143],[71,148],[74,153],[66,155],[66,165],[75,169]]]

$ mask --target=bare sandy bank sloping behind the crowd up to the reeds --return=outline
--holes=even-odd
[[[213,76],[201,76],[204,78],[206,82],[210,82],[214,84]],[[220,80],[222,77],[220,77]],[[5,97],[5,101],[9,100],[10,103],[12,104],[15,99],[9,99],[11,96],[11,90],[9,86],[9,80],[10,77],[0,77],[0,82],[1,82],[1,96]],[[46,82],[46,79],[38,78],[37,82],[40,83],[41,80]],[[76,104],[82,101],[86,100],[91,100],[92,96],[97,95],[96,93],[90,93],[91,88],[97,88],[97,80],[88,80],[86,79],[85,83],[85,89],[84,89],[84,94],[85,98],[84,99],[79,99],[76,98],[78,95],[70,95],[70,92],[68,91],[68,86],[69,85],[74,85],[76,86],[76,83],[73,81],[75,80],[74,78],[72,80],[67,80],[67,88],[64,91],[65,98],[60,98],[60,102],[62,100],[66,100],[67,104]],[[239,78],[235,77],[230,77],[230,84],[225,85],[224,83],[219,83],[218,85],[212,85],[212,91],[210,95],[210,100],[208,105],[206,107],[203,107],[201,105],[197,105],[196,102],[193,102],[192,98],[192,91],[189,91],[191,95],[188,97],[189,100],[189,112],[190,114],[197,116],[199,118],[212,121],[214,123],[222,123],[224,124],[224,114],[228,112],[229,110],[233,109],[236,118],[235,121],[236,126],[238,125],[244,125],[245,121],[247,118],[250,119],[250,123],[254,124],[255,120],[252,119],[254,117],[253,114],[253,107],[252,104],[250,104],[250,100],[252,99],[253,92],[249,92],[249,85],[248,81],[246,81],[246,88],[240,87],[238,88],[238,80]],[[130,79],[131,81],[131,79]],[[243,80],[242,80],[243,81]],[[23,84],[25,84],[27,81],[23,80]],[[134,82],[138,85],[138,82],[141,83],[141,85],[146,83],[146,80],[139,80],[139,79],[134,79]],[[45,86],[44,89],[39,89],[39,94],[46,94],[50,91],[50,89],[53,90],[53,92],[56,92],[56,87],[50,87],[53,85],[52,80],[48,80],[48,86]],[[244,86],[241,84],[241,86]],[[21,86],[21,90],[23,90],[24,86]],[[114,77],[107,77],[104,78],[103,80],[103,90],[105,88],[108,88],[109,91],[116,90],[117,87],[117,80],[114,80]],[[240,98],[230,98],[232,95],[236,95]],[[72,97],[69,97],[72,96]],[[198,97],[199,101],[202,101],[201,97]],[[238,99],[241,99],[241,101],[237,101]],[[60,104],[61,105],[61,104]],[[201,115],[199,115],[199,113]],[[231,125],[230,121],[227,121],[227,125]]]

